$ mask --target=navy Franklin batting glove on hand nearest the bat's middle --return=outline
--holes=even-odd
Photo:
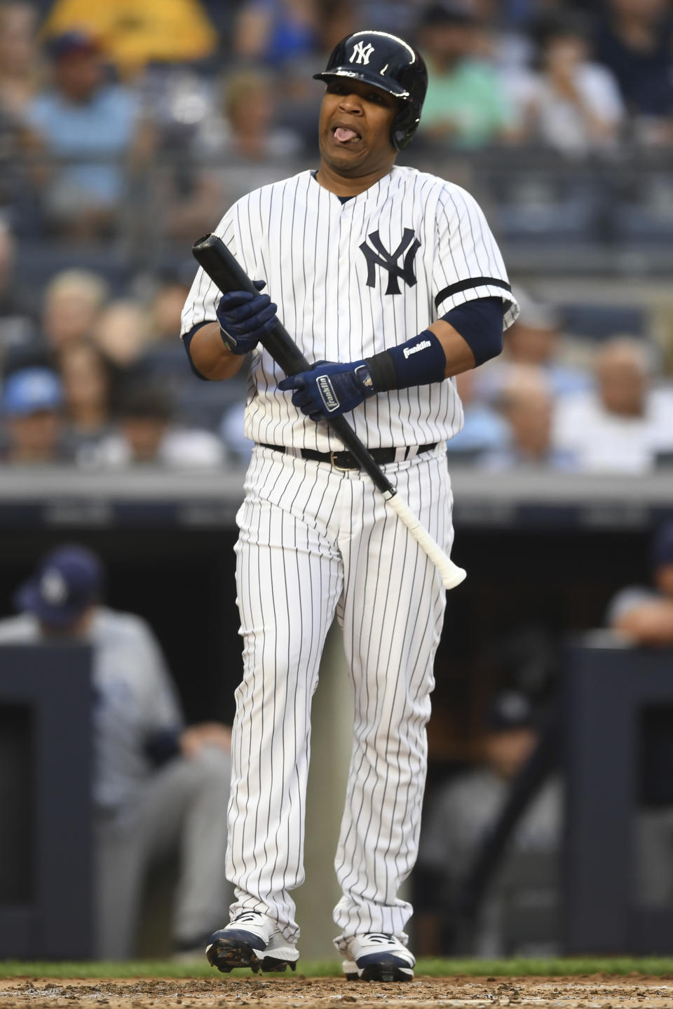
[[[278,388],[292,389],[293,403],[312,421],[347,414],[376,393],[365,361],[319,361],[284,378]]]

